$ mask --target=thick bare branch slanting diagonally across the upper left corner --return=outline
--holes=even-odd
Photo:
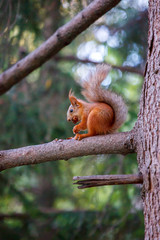
[[[91,2],[88,7],[59,28],[40,47],[0,75],[0,94],[5,93],[14,84],[40,67],[119,2],[120,0],[94,0]]]

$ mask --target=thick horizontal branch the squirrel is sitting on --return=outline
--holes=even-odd
[[[133,133],[96,136],[77,141],[54,140],[49,143],[0,151],[0,170],[47,161],[68,160],[95,154],[128,154],[135,152]]]

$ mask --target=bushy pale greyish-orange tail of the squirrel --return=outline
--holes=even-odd
[[[115,120],[109,132],[115,132],[126,120],[127,106],[121,96],[101,87],[101,82],[110,69],[105,64],[97,65],[95,71],[90,73],[88,81],[83,81],[82,94],[89,102],[104,102],[113,108]]]

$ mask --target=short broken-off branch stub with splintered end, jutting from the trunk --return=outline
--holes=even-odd
[[[105,185],[122,185],[122,184],[142,184],[142,175],[95,175],[95,176],[77,176],[73,178],[77,181],[73,184],[79,184],[79,189],[99,187]]]

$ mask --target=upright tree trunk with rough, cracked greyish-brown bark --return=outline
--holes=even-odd
[[[137,121],[145,240],[160,239],[160,1],[149,1],[148,57]]]

